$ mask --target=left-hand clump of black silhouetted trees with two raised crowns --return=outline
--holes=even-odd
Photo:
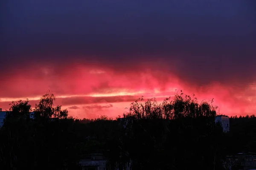
[[[31,115],[29,100],[12,102],[0,130],[2,167],[76,167],[79,148],[67,110],[53,107],[53,94],[44,95]],[[54,118],[54,119],[52,119]]]

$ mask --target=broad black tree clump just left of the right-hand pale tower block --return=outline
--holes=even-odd
[[[222,131],[215,128],[212,102],[198,103],[181,91],[160,104],[154,98],[143,102],[143,96],[131,103],[123,115],[128,122],[122,141],[130,153],[127,161],[138,170],[221,168],[221,150],[217,152],[218,141],[212,139]]]

